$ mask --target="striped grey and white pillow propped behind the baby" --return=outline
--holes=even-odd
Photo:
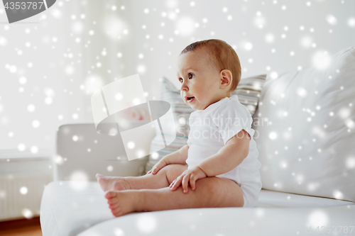
[[[258,106],[261,89],[263,88],[265,80],[266,74],[241,79],[238,87],[231,94],[238,96],[239,102],[248,108],[251,116],[253,116],[253,113],[256,111],[256,106]],[[177,127],[177,137],[168,147],[165,147],[164,143],[159,141],[161,138],[155,137],[152,140],[151,150],[159,151],[156,152],[158,155],[151,154],[149,156],[149,162],[146,164],[145,174],[150,171],[154,164],[156,164],[162,157],[179,150],[180,147],[187,144],[187,138],[189,136],[189,125],[187,120],[190,118],[190,113],[195,111],[182,101],[180,89],[176,89],[174,84],[165,77],[161,79],[159,100],[168,101],[171,105],[175,118],[175,125]],[[160,130],[157,130],[157,133],[160,133]]]

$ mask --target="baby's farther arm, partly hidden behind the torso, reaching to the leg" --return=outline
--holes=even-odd
[[[147,172],[147,174],[156,174],[160,169],[167,166],[168,164],[183,164],[187,165],[187,152],[189,150],[189,145],[181,147],[179,150],[167,154],[165,157],[160,159],[160,161],[154,165],[154,167]]]

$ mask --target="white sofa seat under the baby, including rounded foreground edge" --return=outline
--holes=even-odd
[[[322,226],[338,235],[355,225],[355,203],[261,190],[256,208],[195,208],[111,215],[97,182],[53,181],[40,206],[43,236],[300,235]],[[94,225],[94,226],[93,226]],[[334,227],[333,227],[334,226]],[[339,226],[339,227],[338,227]],[[340,226],[343,226],[339,234]],[[355,235],[353,227],[352,233]],[[329,234],[327,234],[329,235]]]

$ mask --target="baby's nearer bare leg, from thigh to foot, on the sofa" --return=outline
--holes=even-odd
[[[133,211],[173,210],[182,208],[223,208],[244,206],[243,191],[231,179],[207,177],[197,179],[196,189],[189,185],[187,193],[182,186],[175,191],[163,189],[141,189],[107,191],[109,208],[115,216]]]

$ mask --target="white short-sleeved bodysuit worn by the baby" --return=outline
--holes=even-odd
[[[189,150],[186,159],[188,169],[216,154],[241,130],[246,130],[251,136],[249,154],[243,162],[229,172],[217,175],[231,179],[241,187],[244,207],[256,206],[261,191],[261,163],[258,161],[258,150],[253,139],[255,130],[251,128],[252,122],[251,113],[239,102],[236,95],[212,103],[204,110],[193,111],[189,118]]]

